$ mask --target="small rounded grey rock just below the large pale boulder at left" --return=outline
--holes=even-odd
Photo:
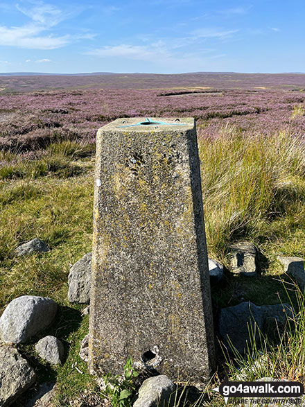
[[[53,365],[62,363],[64,357],[64,345],[55,336],[45,336],[35,345],[35,351],[45,361]]]

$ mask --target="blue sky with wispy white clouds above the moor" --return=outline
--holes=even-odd
[[[1,72],[305,72],[304,0],[0,0]]]

